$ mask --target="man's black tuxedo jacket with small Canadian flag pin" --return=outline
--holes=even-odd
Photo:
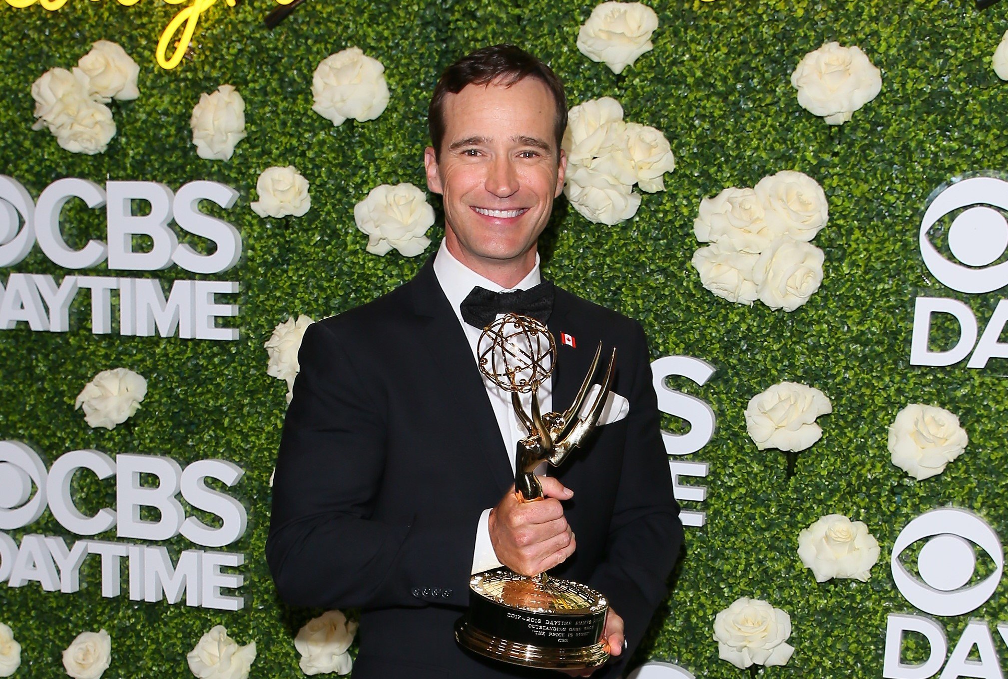
[[[360,607],[355,679],[543,676],[463,651],[480,514],[514,482],[472,350],[434,276],[308,326],[284,422],[266,557],[289,603]],[[617,348],[624,419],[600,426],[556,476],[575,554],[550,571],[605,594],[630,651],[666,594],[682,543],[643,329],[556,290],[553,407],[566,408],[601,341]],[[597,381],[601,380],[601,370]],[[629,653],[623,656],[625,658]],[[615,677],[622,662],[599,670]]]

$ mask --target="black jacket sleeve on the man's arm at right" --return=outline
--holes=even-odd
[[[623,618],[629,649],[619,663],[610,663],[605,672],[598,673],[600,678],[619,676],[640,644],[651,616],[668,593],[666,578],[683,541],[668,456],[661,442],[647,341],[640,324],[634,326],[633,387],[620,485],[606,558],[589,581]]]

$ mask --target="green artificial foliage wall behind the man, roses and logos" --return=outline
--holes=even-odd
[[[227,548],[248,557],[240,569],[246,606],[239,613],[133,602],[125,590],[102,598],[96,557],[86,560],[84,586],[75,594],[42,592],[35,582],[0,586],[0,622],[22,645],[15,677],[66,676],[62,649],[78,633],[101,628],[113,645],[106,676],[188,677],[185,654],[216,624],[240,644],[257,643],[253,677],[301,676],[293,636],[319,612],[281,604],[263,556],[285,385],[267,377],[262,344],[288,315],[339,313],[394,288],[420,266],[423,256],[366,253],[353,207],[379,183],[424,185],[426,105],[438,74],[470,49],[502,41],[547,60],[565,81],[572,106],[603,96],[619,100],[627,120],[665,133],[677,160],[666,190],[645,194],[634,219],[592,225],[561,200],[544,240],[546,274],[640,319],[654,358],[689,355],[718,369],[704,387],[671,383],[709,402],[718,416],[714,439],[690,457],[710,462],[710,476],[700,482],[709,487],[708,500],[684,503],[706,511],[707,525],[687,529],[674,588],[637,660],[674,662],[704,677],[746,677],[718,659],[711,637],[715,615],[750,596],[786,610],[793,627],[793,657],[765,676],[881,676],[886,616],[912,613],[889,575],[900,529],[926,510],[954,505],[1008,536],[1004,360],[985,370],[908,361],[913,300],[964,298],[934,281],[917,252],[927,196],[951,177],[1006,169],[1008,162],[1008,84],[990,66],[1008,28],[1008,2],[985,11],[967,0],[649,4],[660,19],[654,49],[621,76],[578,51],[579,26],[594,6],[582,0],[309,0],[273,31],[262,24],[273,3],[220,2],[204,15],[190,54],[173,71],[158,67],[153,55],[180,6],[154,0],[129,8],[77,0],[56,12],[2,6],[0,172],[34,198],[66,176],[156,180],[172,189],[194,179],[221,181],[240,198],[230,211],[209,212],[233,224],[245,244],[239,265],[213,276],[241,282],[238,342],[92,334],[86,292],[74,303],[70,332],[32,332],[25,323],[0,331],[0,438],[25,441],[49,460],[89,447],[165,454],[183,465],[233,460],[246,471],[234,495],[249,510],[248,532]],[[72,154],[48,132],[30,129],[30,87],[50,67],[76,64],[98,39],[119,42],[140,63],[140,98],[112,104],[118,133],[107,152]],[[861,46],[882,70],[879,97],[840,127],[801,109],[789,83],[802,55],[829,40]],[[310,109],[311,74],[350,45],[385,64],[391,102],[377,120],[334,127]],[[245,100],[248,137],[230,161],[202,160],[191,143],[190,115],[200,93],[222,84],[234,85]],[[256,178],[270,165],[287,164],[310,182],[310,212],[257,218],[249,208],[258,197]],[[830,200],[830,223],[815,239],[826,252],[822,288],[792,313],[715,297],[689,266],[701,245],[692,235],[701,198],[729,185],[752,186],[782,169],[814,177]],[[439,209],[436,197],[431,201]],[[64,213],[68,242],[104,240],[104,212],[75,203]],[[435,226],[429,235],[436,243],[440,233]],[[57,281],[74,273],[37,247],[24,262],[0,270],[0,281],[11,272],[49,273]],[[105,264],[77,273],[109,275]],[[178,268],[156,275],[193,278]],[[1000,296],[967,300],[981,326]],[[955,338],[948,326],[935,334]],[[403,351],[411,351],[408,338]],[[145,376],[148,395],[125,424],[93,430],[74,399],[97,372],[119,366]],[[743,415],[750,397],[784,380],[821,389],[834,406],[820,418],[822,440],[798,455],[791,479],[783,453],[756,450]],[[919,483],[893,466],[886,449],[889,423],[911,402],[957,413],[970,435],[967,452],[944,473]],[[683,428],[671,417],[665,425]],[[85,512],[111,506],[112,488],[89,474],[75,482]],[[798,532],[831,513],[864,521],[882,545],[868,582],[816,584],[801,566]],[[48,512],[11,536],[19,542],[29,532],[66,535]],[[167,546],[172,556],[193,547],[181,538]],[[977,577],[989,568],[981,565]],[[1005,587],[972,615],[992,626],[1008,619]],[[952,643],[966,623],[966,617],[942,621]],[[914,653],[919,661],[926,650],[918,644],[911,660]]]

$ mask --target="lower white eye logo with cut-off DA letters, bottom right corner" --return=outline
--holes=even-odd
[[[918,579],[906,568],[900,555],[921,540],[926,542],[917,555]],[[987,575],[970,584],[977,573],[977,547],[991,559],[993,569],[987,569]],[[896,588],[910,605],[931,616],[948,618],[964,616],[990,600],[1004,572],[1004,551],[998,534],[979,516],[966,510],[942,508],[922,514],[900,531],[889,565]],[[998,623],[997,631],[1008,644],[1008,623]],[[907,633],[923,637],[923,648],[927,650],[923,662],[904,662]],[[928,679],[938,672],[940,679],[1004,676],[994,636],[986,621],[971,620],[952,655],[948,655],[949,646],[944,627],[934,619],[890,614],[882,676]]]

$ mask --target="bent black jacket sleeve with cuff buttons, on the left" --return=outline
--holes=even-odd
[[[266,559],[280,597],[325,607],[465,605],[479,512],[372,518],[387,398],[324,323],[304,332],[273,481]]]

